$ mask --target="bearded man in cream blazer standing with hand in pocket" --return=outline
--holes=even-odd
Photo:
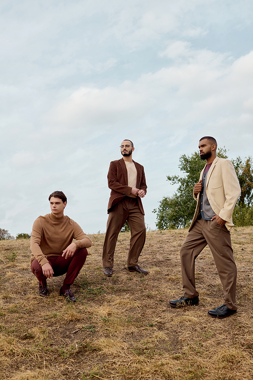
[[[241,189],[232,163],[216,156],[217,142],[205,136],[199,141],[199,154],[206,165],[193,189],[197,201],[189,233],[180,250],[184,296],[171,300],[172,308],[199,305],[195,288],[195,259],[208,244],[223,285],[224,303],[209,310],[214,318],[226,318],[237,310],[236,264],[231,246],[232,214]]]

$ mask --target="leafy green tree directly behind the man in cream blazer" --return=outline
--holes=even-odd
[[[226,149],[219,148],[217,156],[228,158]],[[156,227],[158,230],[179,229],[190,225],[196,201],[193,199],[194,184],[199,181],[199,174],[205,165],[200,159],[199,153],[194,152],[191,156],[182,155],[179,159],[179,168],[186,175],[168,175],[167,180],[179,187],[172,197],[163,197],[159,202],[156,213]]]

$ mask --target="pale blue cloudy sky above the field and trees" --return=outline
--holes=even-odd
[[[179,157],[213,135],[252,156],[251,0],[2,0],[0,227],[30,233],[55,190],[105,232],[110,161],[134,141],[155,228]]]

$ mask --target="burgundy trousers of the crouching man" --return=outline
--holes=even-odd
[[[66,277],[63,281],[63,285],[71,285],[74,283],[76,277],[78,276],[80,270],[85,263],[88,251],[86,248],[77,249],[72,257],[62,257],[59,256],[47,256],[47,259],[53,268],[54,277],[62,276],[66,273]],[[45,286],[47,277],[44,276],[42,268],[39,262],[35,259],[31,264],[31,271],[38,279],[42,286]]]

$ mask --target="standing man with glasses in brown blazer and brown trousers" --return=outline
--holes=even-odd
[[[143,166],[132,159],[134,150],[132,141],[123,140],[120,145],[123,157],[110,163],[107,175],[111,195],[103,247],[103,267],[106,276],[112,276],[117,237],[125,221],[128,222],[131,231],[128,270],[129,272],[148,274],[148,271],[138,265],[138,258],[146,238],[141,198],[146,195],[147,185]]]

